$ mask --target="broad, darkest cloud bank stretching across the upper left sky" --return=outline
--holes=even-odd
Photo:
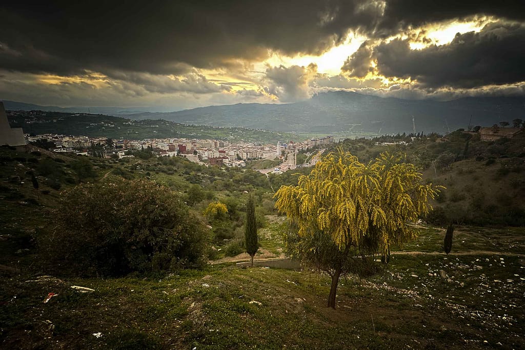
[[[0,9],[1,41],[24,59],[3,52],[0,67],[178,74],[185,65],[264,58],[268,49],[319,54],[349,28],[371,29],[380,10],[366,0],[10,2]],[[46,59],[36,59],[38,52]]]

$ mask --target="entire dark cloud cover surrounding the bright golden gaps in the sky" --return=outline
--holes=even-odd
[[[500,24],[460,35],[444,46],[415,51],[403,40],[377,45],[411,28],[485,15],[499,18]],[[175,93],[181,103],[190,96],[204,104],[271,93],[281,101],[297,101],[308,98],[312,88],[379,87],[379,81],[356,79],[371,70],[371,59],[377,60],[377,71],[416,79],[422,89],[493,86],[525,81],[518,64],[524,58],[523,27],[502,25],[510,20],[525,22],[524,1],[5,1],[0,5],[0,70],[108,77],[104,89],[55,84],[49,96],[57,100],[150,101],[149,94],[167,99]],[[342,43],[349,31],[369,38],[343,66],[350,78],[320,76],[308,67],[269,67],[260,73],[250,67],[271,51],[321,54]],[[234,84],[208,80],[199,69],[215,69],[218,79],[234,77],[254,89],[234,93]],[[263,82],[265,93],[259,87]],[[27,96],[45,93],[44,86],[31,86],[35,84],[24,86]],[[5,89],[0,91],[9,92]]]

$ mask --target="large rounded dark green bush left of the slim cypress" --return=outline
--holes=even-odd
[[[198,268],[209,234],[178,195],[158,184],[108,176],[61,194],[45,257],[79,275]]]

